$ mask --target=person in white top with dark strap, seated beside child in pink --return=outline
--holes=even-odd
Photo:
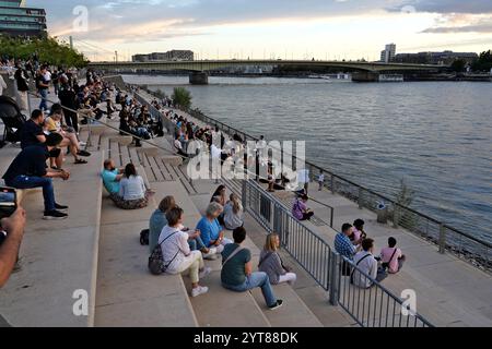
[[[365,275],[371,276],[376,281],[383,281],[388,274],[383,268],[378,267],[378,263],[373,255],[374,240],[362,240],[362,251],[358,252],[353,257],[353,263],[360,269],[352,269],[350,280],[358,287],[370,288],[374,282]]]

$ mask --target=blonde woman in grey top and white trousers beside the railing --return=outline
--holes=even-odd
[[[279,254],[280,237],[278,233],[270,233],[267,236],[267,242],[265,243],[263,251],[260,254],[260,261],[258,263],[258,270],[267,273],[272,285],[281,282],[289,282],[294,285],[297,276],[291,273],[291,268],[286,267],[282,263],[282,258]]]

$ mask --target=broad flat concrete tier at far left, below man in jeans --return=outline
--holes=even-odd
[[[27,226],[20,252],[22,269],[0,290],[0,313],[13,326],[94,324],[102,193],[96,169],[103,154],[95,152],[87,160],[79,166],[68,161],[71,179],[55,180],[57,202],[70,206],[68,219],[42,220],[40,193],[30,193],[23,201]],[[89,297],[86,315],[72,311],[77,290]]]

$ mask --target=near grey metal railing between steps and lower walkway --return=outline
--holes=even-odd
[[[266,229],[280,236],[282,249],[329,293],[329,302],[340,305],[363,327],[432,327],[402,299],[361,270],[352,261],[342,258],[331,246],[298,221],[284,205],[253,180],[243,181],[243,205]],[[348,264],[355,277],[368,280],[370,288],[352,285],[343,276]]]

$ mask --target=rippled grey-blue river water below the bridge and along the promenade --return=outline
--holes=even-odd
[[[306,141],[306,157],[492,241],[492,83],[356,84],[312,79],[126,75],[167,95],[186,86],[195,108],[267,140]]]

